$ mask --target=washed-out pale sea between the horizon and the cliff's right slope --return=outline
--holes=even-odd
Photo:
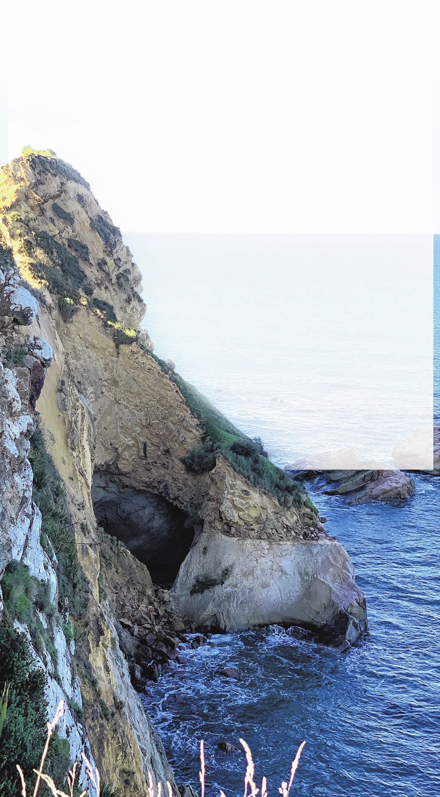
[[[124,238],[156,354],[274,461],[352,449],[392,467],[430,429],[432,238]]]

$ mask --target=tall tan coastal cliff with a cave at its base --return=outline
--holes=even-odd
[[[132,686],[151,661],[173,658],[176,634],[279,622],[344,647],[367,629],[365,599],[305,491],[155,357],[139,328],[139,270],[73,167],[51,151],[3,167],[0,237],[0,466],[20,473],[2,486],[1,571],[17,562],[45,579],[64,626],[77,628],[67,642],[63,622],[48,624],[70,681],[39,658],[48,700],[61,689],[81,709],[65,729],[69,741],[77,734],[71,757],[91,750],[121,795],[146,793],[148,771],[177,793]],[[61,606],[50,524],[41,534],[34,435],[61,485],[81,611],[75,595]]]

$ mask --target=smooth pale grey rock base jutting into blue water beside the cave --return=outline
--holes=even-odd
[[[365,598],[336,540],[255,544],[203,532],[180,568],[171,601],[187,622],[213,629],[299,625],[343,646],[367,630]]]

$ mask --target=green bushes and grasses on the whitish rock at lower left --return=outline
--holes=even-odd
[[[1,581],[4,609],[0,624],[0,689],[4,684],[10,685],[6,720],[0,736],[2,797],[18,797],[22,793],[16,764],[20,764],[29,783],[33,780],[33,769],[40,763],[49,719],[45,675],[35,667],[29,642],[24,634],[14,629],[14,622],[26,624],[38,654],[44,649],[47,651],[53,663],[53,677],[57,678],[54,626],[61,622],[61,612],[69,611],[73,617],[83,614],[88,599],[63,485],[52,457],[45,450],[39,428],[30,438],[29,461],[33,469],[33,501],[41,511],[41,544],[49,557],[53,558],[53,552],[57,556],[59,603],[58,607],[53,606],[49,584],[30,575],[22,562],[11,561],[7,565]],[[61,622],[61,627],[67,642],[76,638],[77,629],[71,619]],[[45,771],[62,784],[69,764],[69,741],[54,732]],[[41,795],[49,795],[46,787],[41,787]]]

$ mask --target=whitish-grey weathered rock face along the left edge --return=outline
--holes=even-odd
[[[4,251],[4,250],[3,250]],[[12,276],[11,276],[12,274]],[[13,281],[14,292],[1,291],[6,277]],[[38,309],[38,302],[19,285],[18,273],[5,272],[0,269],[0,312],[6,309],[5,295],[14,296],[14,303],[10,304],[9,311],[4,312],[0,324],[0,346],[3,356],[4,351],[20,351],[23,354],[26,348],[20,333],[15,333],[12,321],[19,321],[26,325],[33,320]],[[29,299],[30,297],[30,299]],[[30,301],[32,300],[32,301]],[[18,302],[21,310],[18,311]],[[32,341],[33,344],[34,341]],[[29,355],[23,355],[23,362],[17,367],[14,358],[10,367],[5,367],[0,361],[0,579],[5,567],[13,560],[26,565],[29,575],[38,579],[40,583],[49,586],[49,595],[53,606],[57,606],[58,583],[55,570],[57,560],[49,559],[48,554],[41,547],[41,512],[32,500],[33,473],[27,458],[29,452],[29,437],[34,430],[33,418],[29,415],[29,395],[33,387],[33,369],[38,366],[41,370],[41,387],[44,383],[46,367],[49,363],[50,347],[45,341],[38,340],[29,347]],[[44,365],[41,363],[45,363]],[[9,362],[9,360],[8,360]],[[2,582],[0,580],[0,619],[2,618]],[[49,622],[44,612],[40,612],[39,619],[42,625],[49,629]],[[72,760],[80,764],[78,772],[78,785],[88,787],[88,777],[81,754],[84,752],[92,764],[94,760],[87,732],[77,716],[69,709],[69,699],[75,701],[81,708],[81,684],[74,673],[72,655],[75,643],[68,646],[61,626],[53,626],[52,639],[50,640],[57,655],[57,677],[53,658],[49,654],[48,642],[41,640],[41,650],[38,652],[33,646],[28,627],[16,621],[16,630],[24,634],[28,640],[30,654],[35,666],[45,675],[45,697],[48,702],[48,720],[52,719],[60,701],[65,703],[65,713],[57,725],[61,738],[69,739]]]

